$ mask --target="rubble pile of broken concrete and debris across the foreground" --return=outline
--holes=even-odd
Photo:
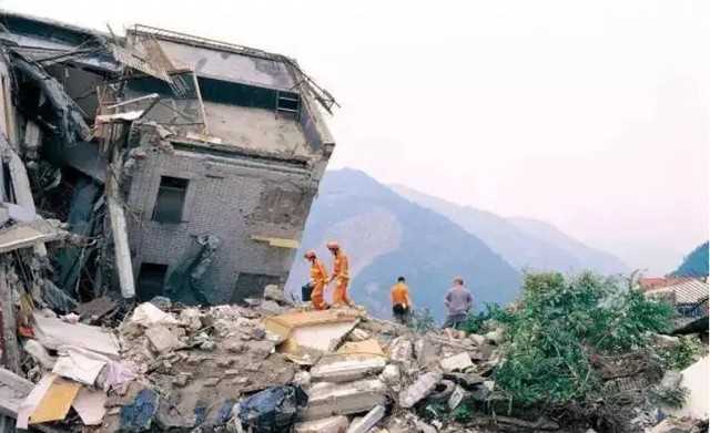
[[[38,311],[23,343],[30,380],[2,370],[0,406],[18,427],[45,431],[578,431],[506,412],[494,379],[500,330],[417,332],[358,308],[314,311],[267,297],[206,308],[159,298],[108,329]],[[629,379],[621,371],[638,364],[628,359],[605,365],[627,382],[650,374]],[[682,374],[659,380],[658,392],[676,390]],[[658,412],[631,412],[629,431],[702,431],[688,417],[659,424]]]

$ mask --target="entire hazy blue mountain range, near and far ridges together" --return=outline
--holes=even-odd
[[[325,244],[336,239],[351,264],[351,296],[378,317],[389,317],[389,289],[398,276],[415,308],[444,316],[443,297],[456,276],[477,308],[515,299],[527,269],[604,274],[627,270],[621,260],[535,219],[504,218],[407,187],[386,186],[344,168],[323,177],[291,270],[286,291],[300,295],[308,279],[303,254],[315,249],[332,267]]]

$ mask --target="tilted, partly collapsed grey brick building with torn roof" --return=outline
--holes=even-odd
[[[115,256],[114,287],[130,292],[132,279],[139,299],[216,303],[285,281],[335,146],[322,115],[335,101],[295,61],[144,25],[116,38],[2,18],[3,50],[20,75],[18,131],[38,136],[39,162],[61,167],[71,185],[72,231],[105,230],[97,209],[108,202],[115,251],[93,254],[104,268],[106,251]],[[43,89],[41,74],[57,85]],[[38,89],[65,96],[63,112],[44,115]],[[112,182],[121,209],[102,194]],[[124,255],[114,226],[123,218]],[[70,287],[93,261],[74,250],[58,262],[58,286]]]

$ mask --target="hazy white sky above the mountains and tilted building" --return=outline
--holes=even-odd
[[[331,167],[550,221],[650,272],[708,238],[710,2],[55,1],[282,52],[342,103]]]

